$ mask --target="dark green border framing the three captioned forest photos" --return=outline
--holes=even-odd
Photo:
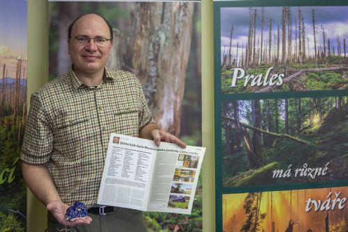
[[[215,213],[216,231],[223,231],[222,222],[222,195],[242,192],[276,191],[276,190],[301,190],[326,187],[347,186],[347,181],[331,181],[321,183],[288,183],[281,185],[260,185],[239,188],[223,188],[221,172],[221,103],[226,100],[249,99],[280,99],[280,98],[304,98],[304,97],[340,97],[347,96],[348,90],[323,90],[307,92],[269,92],[269,93],[221,93],[221,8],[227,7],[258,7],[258,6],[348,6],[347,0],[239,0],[239,1],[214,1],[214,112],[215,112]],[[203,95],[204,96],[204,95]]]

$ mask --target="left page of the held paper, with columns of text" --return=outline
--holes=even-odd
[[[156,149],[152,140],[112,133],[97,204],[146,210]]]

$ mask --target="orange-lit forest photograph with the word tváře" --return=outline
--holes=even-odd
[[[347,187],[223,194],[223,232],[345,232],[347,196]]]

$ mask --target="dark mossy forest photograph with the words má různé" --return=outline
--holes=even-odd
[[[223,187],[347,181],[347,103],[347,96],[223,101]]]

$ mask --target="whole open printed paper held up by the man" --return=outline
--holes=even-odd
[[[190,214],[205,147],[112,133],[98,204]]]

